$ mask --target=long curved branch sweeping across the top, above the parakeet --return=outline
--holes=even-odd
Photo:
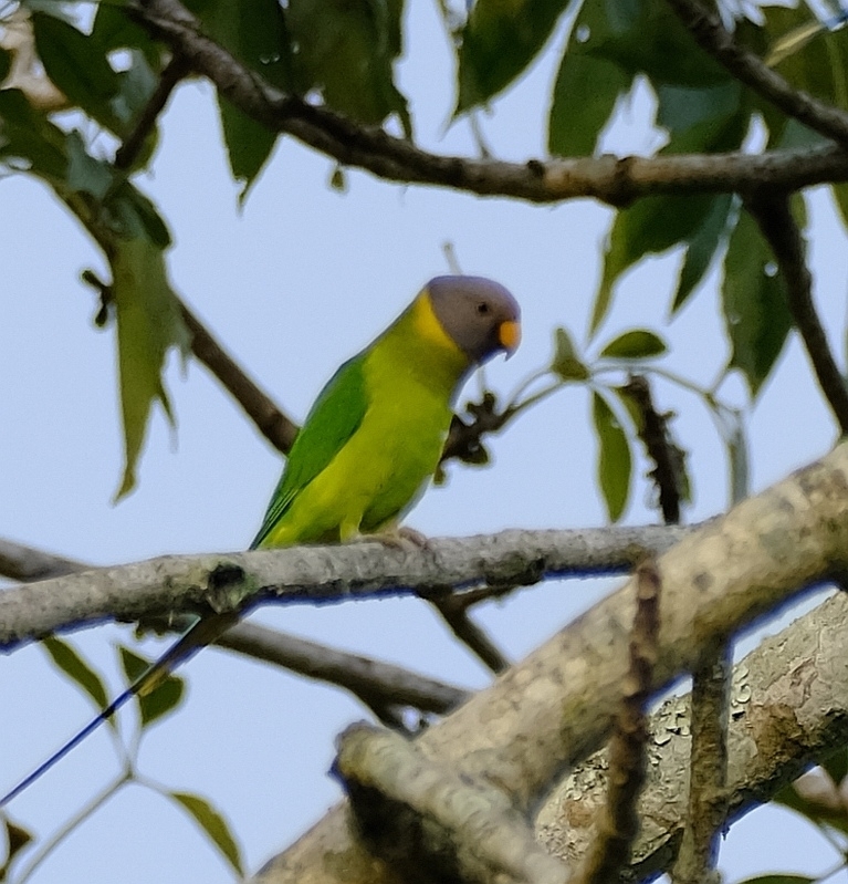
[[[660,193],[737,191],[752,185],[797,189],[848,180],[848,154],[838,147],[659,157],[579,157],[526,163],[440,156],[359,126],[286,95],[207,38],[177,0],[139,0],[139,21],[219,92],[273,132],[287,133],[336,162],[405,184],[429,184],[531,202],[595,197],[613,206]]]

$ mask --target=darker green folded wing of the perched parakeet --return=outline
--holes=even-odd
[[[318,394],[289,453],[283,476],[250,549],[259,547],[294,498],[333,460],[362,424],[368,405],[363,374],[365,356],[363,352],[344,363]]]

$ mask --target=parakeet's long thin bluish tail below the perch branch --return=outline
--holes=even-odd
[[[133,697],[144,697],[155,690],[165,678],[181,663],[190,659],[198,651],[214,642],[230,626],[238,621],[235,612],[226,614],[209,614],[200,617],[156,661],[154,661],[132,685],[119,694],[112,703],[93,718],[82,730],[71,737],[61,749],[53,752],[50,758],[40,765],[29,776],[22,779],[13,789],[0,798],[0,808],[4,808],[13,798],[29,789],[35,780],[46,773],[56,762],[61,761],[74,747],[78,746],[90,734],[95,731],[104,721],[112,718],[115,713]]]

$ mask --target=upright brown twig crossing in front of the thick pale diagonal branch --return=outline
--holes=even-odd
[[[648,739],[645,704],[650,696],[657,661],[661,585],[656,561],[642,562],[636,571],[637,607],[630,634],[630,669],[609,741],[607,801],[598,819],[597,835],[575,884],[617,880],[630,860],[639,832],[636,801],[645,782]]]

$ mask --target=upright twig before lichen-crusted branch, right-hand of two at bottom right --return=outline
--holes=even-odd
[[[723,643],[692,673],[692,755],[683,840],[671,873],[674,884],[719,882],[715,863],[727,819],[727,710],[733,663]]]

